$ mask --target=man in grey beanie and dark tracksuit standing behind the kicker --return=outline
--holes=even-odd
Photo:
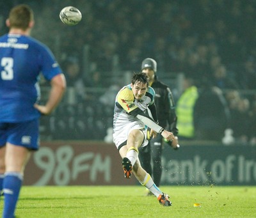
[[[173,148],[177,148],[177,144],[179,144],[177,137],[177,116],[175,113],[175,104],[173,101],[172,91],[166,84],[157,79],[157,63],[154,59],[144,59],[141,63],[141,70],[148,75],[149,84],[156,92],[155,104],[157,108],[159,125],[173,133],[175,139],[173,139],[172,142],[169,142],[169,144]],[[148,130],[148,139],[150,139],[148,141],[148,146],[140,149],[141,165],[154,178],[154,182],[156,183],[157,187],[159,187],[163,169],[161,166],[163,137],[158,134],[153,138],[150,136],[150,131]],[[150,195],[150,192],[148,192],[148,195]]]

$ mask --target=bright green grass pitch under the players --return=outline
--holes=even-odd
[[[163,186],[173,206],[159,205],[138,186],[29,187],[17,217],[256,217],[256,187]],[[200,203],[201,207],[194,207]],[[3,199],[0,202],[3,210]]]

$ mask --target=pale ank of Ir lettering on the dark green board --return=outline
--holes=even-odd
[[[256,161],[243,155],[227,155],[225,159],[209,160],[195,155],[193,159],[166,160],[163,158],[163,183],[252,183],[256,181]]]

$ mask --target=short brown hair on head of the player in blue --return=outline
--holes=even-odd
[[[27,4],[19,4],[12,8],[9,13],[10,27],[26,30],[29,22],[34,20],[33,11]]]

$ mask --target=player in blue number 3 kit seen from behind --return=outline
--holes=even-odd
[[[29,6],[20,4],[6,20],[10,31],[0,37],[0,191],[3,217],[14,217],[24,168],[38,150],[39,118],[50,114],[65,91],[65,77],[52,52],[31,38],[34,25]],[[39,105],[38,76],[51,81],[45,105]]]

